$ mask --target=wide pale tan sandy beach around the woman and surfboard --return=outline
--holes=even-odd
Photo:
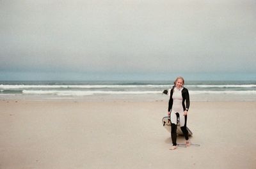
[[[3,99],[0,168],[255,168],[255,101],[192,101],[200,147],[175,151],[166,110],[166,101]]]

